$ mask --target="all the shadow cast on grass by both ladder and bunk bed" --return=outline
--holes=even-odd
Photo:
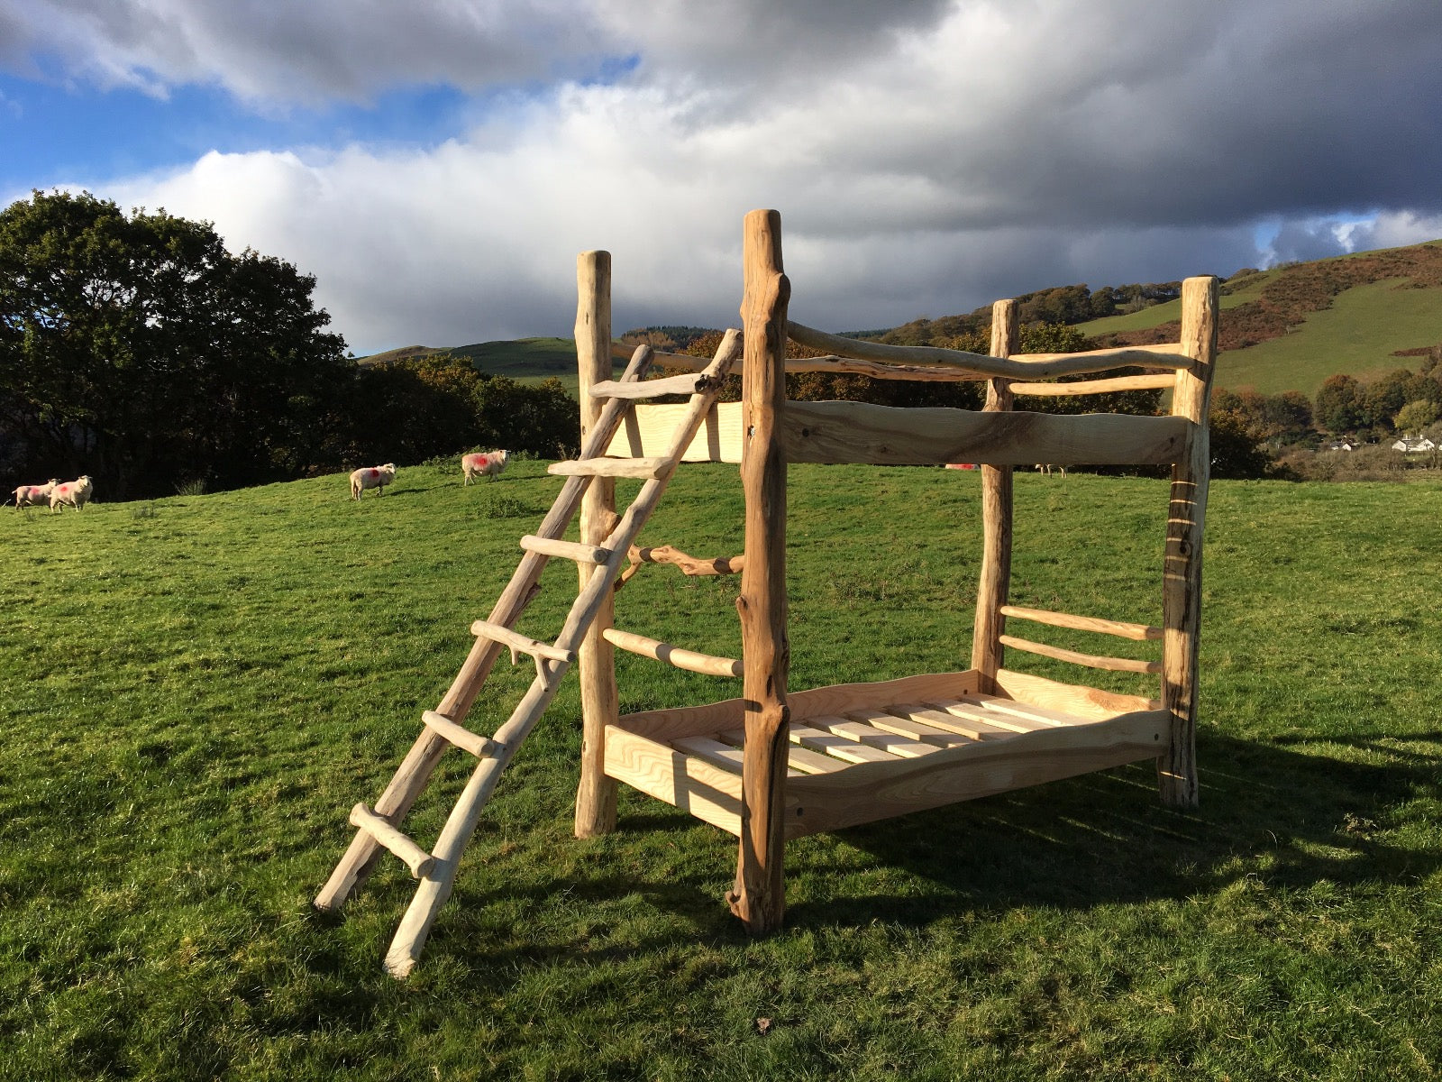
[[[1417,737],[1426,740],[1428,737]],[[1332,740],[1331,743],[1353,743]],[[1358,737],[1368,747],[1373,737]],[[1412,740],[1403,743],[1413,743]],[[1014,907],[1090,909],[1102,905],[1181,900],[1210,894],[1244,877],[1276,887],[1319,881],[1416,883],[1442,867],[1442,850],[1387,841],[1407,822],[1405,805],[1442,796],[1436,755],[1397,755],[1368,765],[1288,750],[1283,742],[1227,737],[1201,742],[1201,806],[1162,808],[1151,763],[1019,789],[930,812],[888,819],[787,847],[789,931],[885,922],[923,928],[962,913]],[[1433,744],[1435,746],[1435,744]],[[1420,812],[1417,812],[1420,814]],[[624,961],[639,954],[746,941],[721,897],[734,871],[734,847],[711,863],[681,838],[695,822],[672,812],[623,814],[614,851],[596,854],[585,871],[518,881],[515,866],[472,864],[443,910],[425,961],[447,958],[472,969],[483,987],[503,991],[516,967]],[[627,835],[639,841],[626,841]],[[649,835],[649,840],[647,840]],[[655,837],[660,835],[660,837]],[[720,832],[718,832],[718,837]],[[662,853],[691,850],[682,867]],[[647,858],[655,858],[649,863]],[[611,870],[624,863],[629,874]],[[904,893],[878,883],[907,879]],[[373,887],[372,887],[373,889]],[[397,918],[414,887],[382,889],[381,906]],[[796,897],[803,894],[803,897]],[[554,910],[565,897],[574,918],[542,918],[526,938],[528,915]],[[607,942],[622,899],[655,910],[653,931]],[[499,913],[509,913],[503,925]],[[333,925],[333,918],[320,918]],[[558,928],[558,923],[561,928]],[[388,922],[388,932],[394,922]],[[382,954],[385,944],[378,944]],[[339,949],[339,948],[337,948]],[[323,954],[323,952],[322,952]],[[320,971],[353,958],[314,958]]]

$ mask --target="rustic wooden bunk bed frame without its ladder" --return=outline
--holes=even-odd
[[[609,260],[604,283],[594,268],[585,271],[587,257],[600,255],[604,252],[583,255],[578,278],[583,433],[596,424],[600,408],[587,390],[610,379]],[[689,563],[694,573],[740,567],[743,658],[709,658],[616,630],[611,612],[603,610],[578,651],[584,740],[577,834],[587,837],[614,827],[616,785],[626,782],[738,835],[737,876],[728,900],[748,929],[763,932],[779,926],[784,913],[787,838],[1148,759],[1158,765],[1162,801],[1195,806],[1197,633],[1217,280],[1184,283],[1181,340],[1174,345],[1017,355],[1017,307],[1005,300],[994,307],[991,355],[982,356],[857,342],[790,323],[790,283],[782,268],[780,215],[774,211],[747,215],[744,264],[743,401],[717,407],[684,456],[741,463],[744,558]],[[598,291],[603,284],[604,296]],[[603,310],[604,320],[596,317]],[[587,336],[596,340],[583,340]],[[835,355],[787,361],[787,338]],[[671,366],[702,366],[678,355],[658,359]],[[1122,365],[1165,371],[1048,382],[1058,375]],[[986,405],[976,413],[787,401],[787,371],[986,379]],[[1169,390],[1171,414],[1054,415],[1012,410],[1017,395],[1139,388]],[[634,459],[653,453],[647,446],[658,439],[653,433],[675,430],[673,415],[666,411],[681,408],[636,407],[610,454]],[[982,465],[983,555],[969,669],[881,684],[787,688],[784,544],[790,462]],[[1011,470],[1038,462],[1171,466],[1159,628],[1008,604]],[[616,521],[614,492],[594,485],[585,501],[581,542],[598,544]],[[633,550],[633,561],[642,558],[682,566],[688,561],[673,550]],[[1007,633],[1008,617],[1132,641],[1159,639],[1162,661],[1093,656],[1030,642]],[[614,646],[682,668],[741,675],[743,694],[701,707],[620,717]],[[1092,668],[1154,672],[1161,677],[1161,695],[1120,695],[1015,672],[1002,665],[1008,646]]]

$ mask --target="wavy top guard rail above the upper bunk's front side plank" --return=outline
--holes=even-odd
[[[1090,349],[1082,353],[1031,353],[1030,356],[1022,355],[1025,359],[1021,359],[986,356],[985,353],[942,349],[940,346],[890,346],[880,342],[862,342],[861,339],[842,338],[841,335],[828,335],[825,330],[816,330],[815,327],[793,322],[786,323],[786,333],[803,346],[826,349],[838,356],[875,361],[884,365],[956,368],[979,378],[1051,379],[1058,375],[1105,372],[1109,368],[1119,368],[1122,365],[1187,368],[1191,364],[1190,358],[1171,352],[1180,349],[1180,346],[1122,346],[1118,349]],[[789,364],[787,371],[790,371]]]

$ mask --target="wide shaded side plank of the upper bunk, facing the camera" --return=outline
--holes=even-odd
[[[937,466],[1148,466],[1187,454],[1193,424],[1131,414],[972,413],[870,403],[787,403],[787,462]]]

